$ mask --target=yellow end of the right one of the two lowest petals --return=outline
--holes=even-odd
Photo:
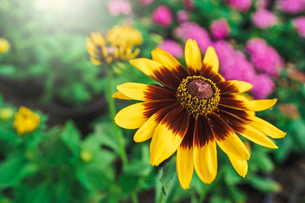
[[[199,148],[194,145],[193,150],[196,173],[203,183],[210,184],[217,174],[216,142],[209,142],[204,147]]]

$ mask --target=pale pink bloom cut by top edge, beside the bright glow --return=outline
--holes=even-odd
[[[132,11],[132,5],[128,0],[111,0],[108,2],[107,7],[112,16],[127,15]]]

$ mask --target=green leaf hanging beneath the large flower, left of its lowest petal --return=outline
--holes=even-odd
[[[172,158],[171,161],[166,163],[165,166],[162,168],[162,170],[163,170],[163,174],[160,179],[160,182],[162,183],[162,192],[166,196],[168,191],[172,187],[172,183],[175,180],[175,177],[177,176],[175,157]]]

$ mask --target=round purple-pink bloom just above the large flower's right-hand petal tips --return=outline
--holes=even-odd
[[[255,99],[266,99],[275,88],[273,80],[267,74],[257,74],[250,83],[253,88],[250,90]]]

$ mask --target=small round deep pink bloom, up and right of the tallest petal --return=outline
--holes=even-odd
[[[210,31],[215,39],[222,39],[229,36],[230,27],[225,18],[220,18],[211,23]]]

